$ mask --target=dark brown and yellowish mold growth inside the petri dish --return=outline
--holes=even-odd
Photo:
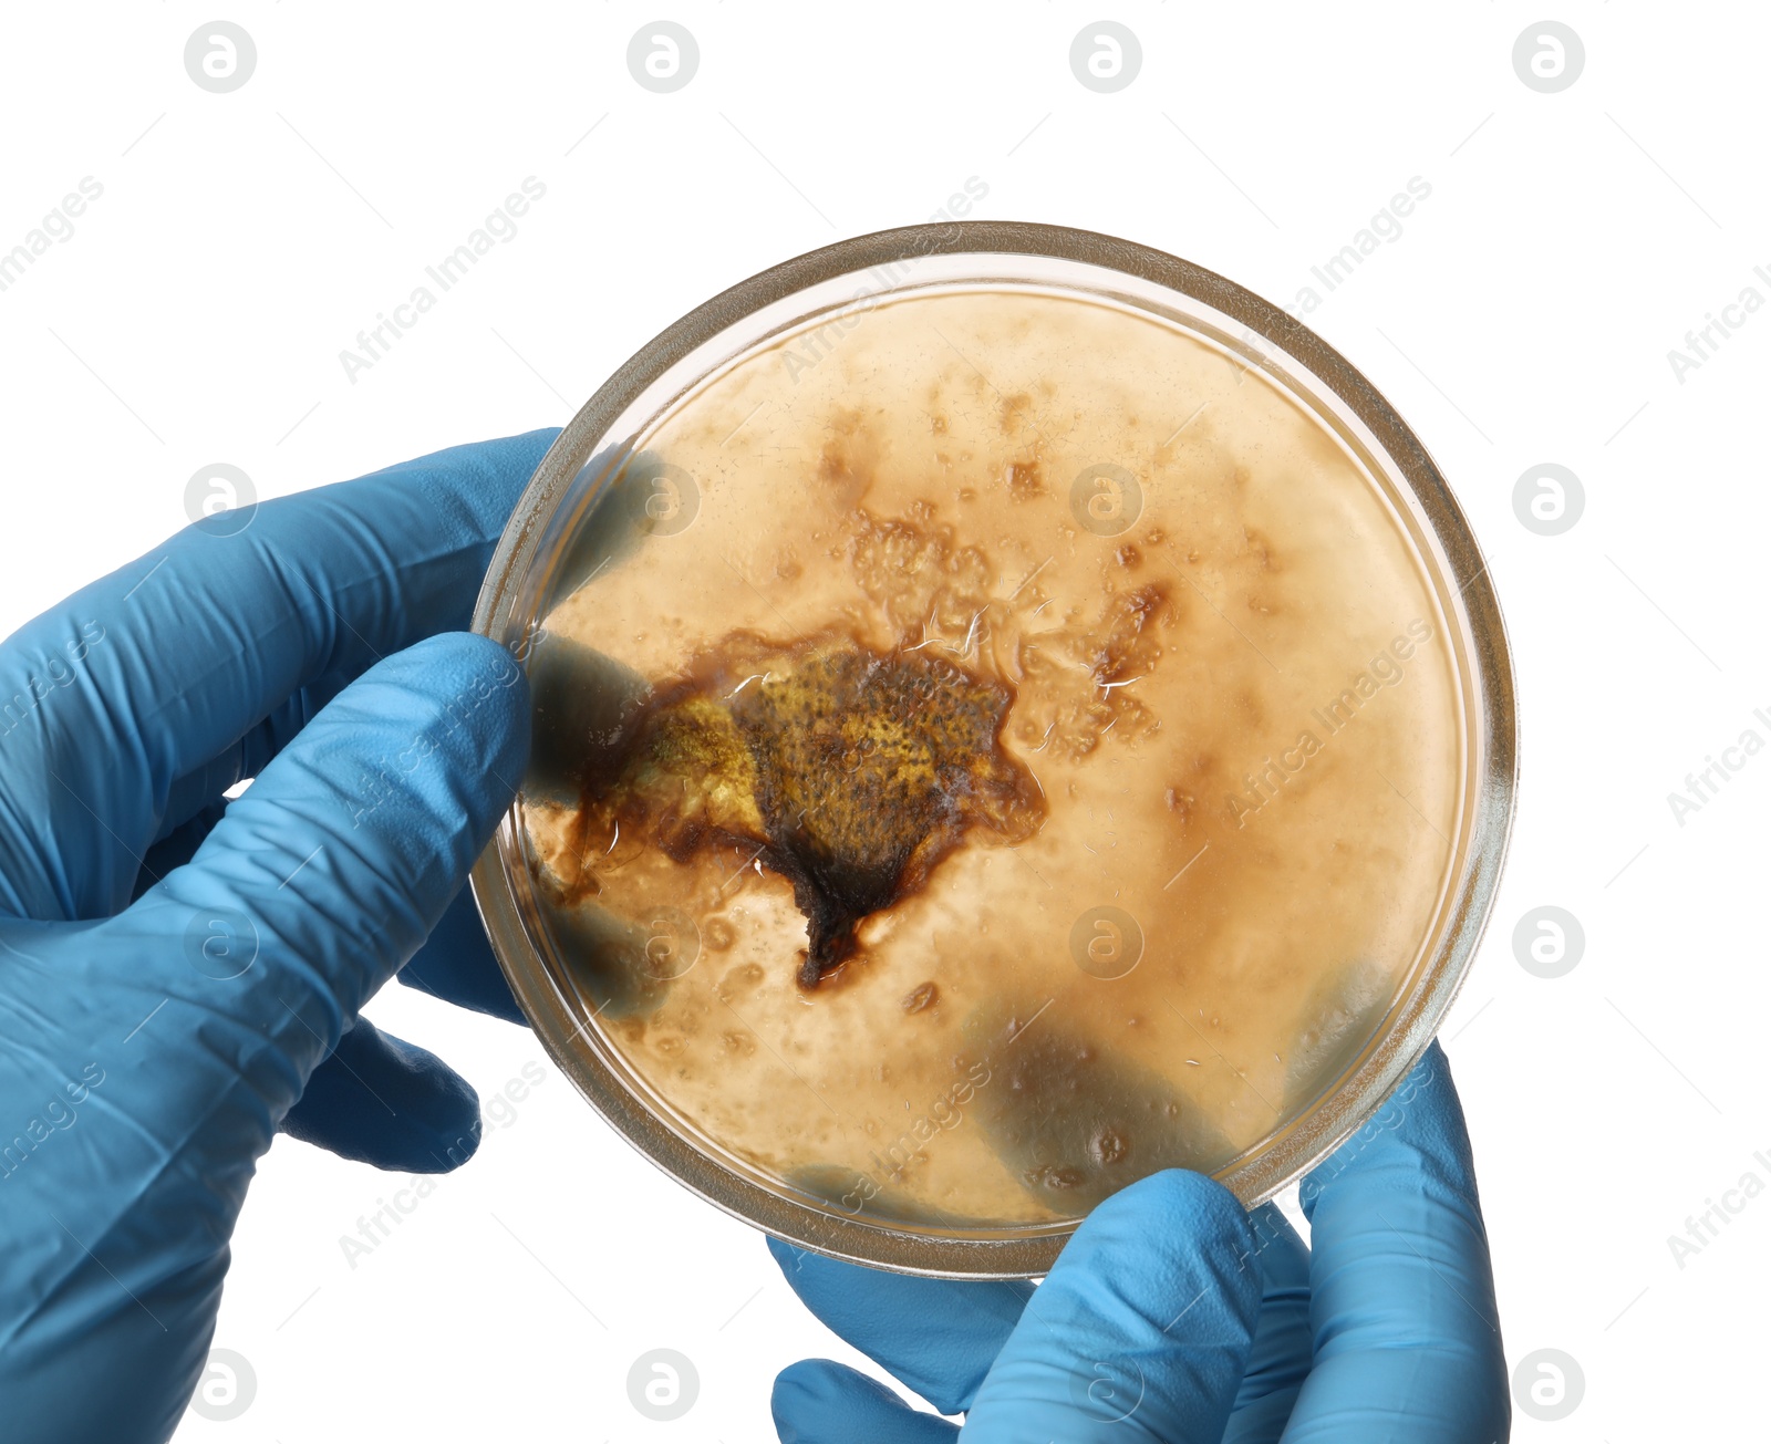
[[[870,913],[916,890],[972,828],[1031,835],[1045,807],[999,745],[1013,690],[926,651],[822,634],[728,637],[653,692],[584,786],[590,832],[650,835],[678,862],[749,844],[806,915],[816,987]]]

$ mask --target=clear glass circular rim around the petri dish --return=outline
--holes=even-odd
[[[1006,258],[995,276],[983,260]],[[1396,409],[1337,350],[1300,320],[1254,292],[1192,262],[1094,232],[1025,221],[951,221],[875,232],[786,260],[721,292],[641,347],[572,418],[542,458],[519,499],[492,556],[473,616],[473,630],[492,637],[524,660],[533,635],[538,580],[547,554],[570,522],[595,497],[584,490],[592,455],[615,442],[636,412],[657,416],[735,357],[749,356],[769,338],[800,329],[809,319],[854,306],[854,297],[809,304],[808,292],[829,294],[832,281],[886,276],[871,296],[900,299],[946,280],[988,285],[1050,281],[1027,274],[1025,262],[1056,262],[1080,281],[1056,281],[1075,294],[1130,301],[1167,313],[1192,334],[1215,342],[1226,356],[1241,356],[1295,405],[1332,423],[1342,448],[1381,488],[1410,531],[1459,642],[1459,685],[1466,711],[1466,800],[1459,848],[1440,899],[1433,954],[1417,959],[1387,1018],[1339,1079],[1293,1122],[1217,1171],[1247,1205],[1279,1193],[1326,1157],[1369,1120],[1431,1044],[1473,959],[1505,862],[1518,786],[1518,713],[1511,651],[1498,596],[1481,549],[1442,471]],[[1020,274],[1011,274],[1017,271]],[[935,274],[907,285],[900,267]],[[1135,294],[1114,290],[1114,283]],[[1174,299],[1172,310],[1160,301]],[[746,329],[747,327],[747,329]],[[742,345],[707,356],[712,343],[742,333]],[[1326,407],[1326,411],[1325,411]],[[602,449],[599,449],[602,448]],[[574,495],[574,492],[577,492]],[[1394,492],[1399,492],[1396,495]],[[568,503],[577,503],[568,506]],[[512,885],[512,860],[522,858],[519,810],[514,805],[475,864],[473,892],[517,1002],[554,1062],[590,1104],[653,1164],[680,1184],[753,1226],[800,1248],[900,1272],[940,1278],[1024,1278],[1043,1274],[1075,1223],[1024,1226],[992,1233],[937,1233],[843,1217],[800,1203],[746,1177],[698,1145],[643,1099],[643,1088],[607,1056],[586,1046],[574,1000],[551,975],[535,938],[531,906]],[[515,869],[522,874],[522,869]]]

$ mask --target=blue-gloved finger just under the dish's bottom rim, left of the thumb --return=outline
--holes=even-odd
[[[1022,1279],[965,1283],[887,1274],[779,1239],[769,1240],[769,1251],[788,1287],[831,1333],[942,1414],[971,1409],[1034,1292]]]

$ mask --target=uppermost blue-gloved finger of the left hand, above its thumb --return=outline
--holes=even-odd
[[[466,626],[553,437],[264,503],[239,531],[209,518],[27,623],[0,646],[0,697],[32,699],[0,756],[0,908],[113,913],[177,779],[306,683]]]

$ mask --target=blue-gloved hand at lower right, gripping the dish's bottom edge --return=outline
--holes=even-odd
[[[880,1274],[770,1240],[838,1334],[965,1444],[1495,1444],[1511,1409],[1463,1110],[1438,1044],[1302,1189],[1312,1248],[1197,1173],[1102,1203],[1038,1288]],[[825,1359],[783,1370],[785,1444],[962,1433]]]

